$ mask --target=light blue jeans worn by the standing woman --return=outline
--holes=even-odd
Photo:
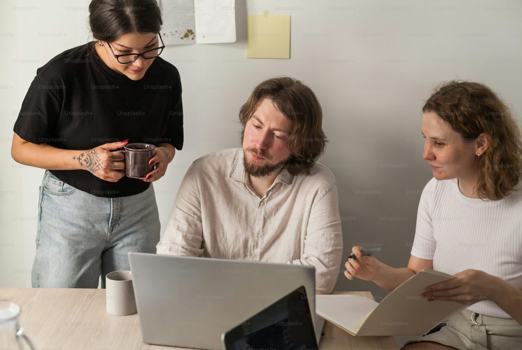
[[[129,270],[128,252],[156,253],[160,239],[152,184],[133,196],[104,198],[80,191],[45,171],[31,284],[102,288],[105,275]]]

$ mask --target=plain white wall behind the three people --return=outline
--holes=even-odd
[[[13,125],[36,69],[90,40],[88,3],[0,4],[0,286],[30,286],[43,174],[11,159]],[[245,58],[246,14],[264,10],[292,16],[291,60]],[[471,79],[520,112],[522,2],[237,0],[236,11],[237,42],[169,46],[162,54],[179,68],[185,110],[184,149],[155,183],[162,228],[188,165],[240,145],[237,115],[252,88],[290,75],[324,109],[329,143],[321,162],[339,184],[345,255],[354,243],[379,246],[381,260],[405,265],[431,178],[421,159],[423,101],[443,80]],[[336,288],[385,295],[342,271]]]

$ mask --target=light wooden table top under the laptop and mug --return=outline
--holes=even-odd
[[[369,291],[338,293],[373,299]],[[0,300],[22,308],[20,325],[41,349],[181,349],[144,344],[138,314],[105,312],[105,289],[0,288]],[[392,336],[354,337],[329,322],[323,332],[320,349],[398,349]]]

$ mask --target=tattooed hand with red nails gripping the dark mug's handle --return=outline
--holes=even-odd
[[[98,146],[74,156],[82,169],[91,172],[94,176],[110,182],[117,182],[125,176],[125,156],[120,151],[128,140],[113,142]]]

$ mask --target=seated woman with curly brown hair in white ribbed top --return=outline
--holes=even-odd
[[[418,271],[452,274],[426,286],[428,300],[468,308],[404,349],[515,349],[522,344],[522,142],[516,120],[487,86],[442,85],[422,109],[422,192],[408,267],[348,259],[345,275],[391,291]]]

